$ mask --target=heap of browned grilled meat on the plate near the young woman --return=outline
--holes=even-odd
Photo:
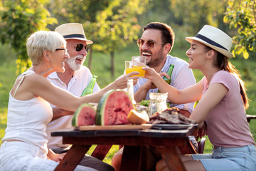
[[[186,118],[186,116],[179,113],[179,109],[176,107],[167,108],[166,110],[161,111],[161,113],[154,113],[149,118],[151,124],[196,124],[195,121]]]

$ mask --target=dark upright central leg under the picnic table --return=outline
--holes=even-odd
[[[139,171],[145,170],[146,146],[129,146],[124,145],[124,152],[122,155],[121,169],[122,171]]]

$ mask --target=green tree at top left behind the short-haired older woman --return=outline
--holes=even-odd
[[[47,24],[54,24],[56,19],[44,7],[45,0],[3,1],[0,9],[1,43],[10,43],[18,53],[17,73],[26,71],[31,61],[26,53],[26,39],[38,30],[46,29]]]

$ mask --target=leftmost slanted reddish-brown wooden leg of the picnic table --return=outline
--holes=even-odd
[[[67,154],[55,168],[55,171],[71,171],[78,165],[85,153],[90,149],[91,145],[72,145]],[[75,156],[75,157],[74,157]]]

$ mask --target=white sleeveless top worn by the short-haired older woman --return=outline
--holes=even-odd
[[[21,74],[34,73],[26,71]],[[46,125],[53,117],[50,104],[41,97],[16,100],[9,93],[7,128],[2,142],[21,140],[36,145],[48,153]]]

